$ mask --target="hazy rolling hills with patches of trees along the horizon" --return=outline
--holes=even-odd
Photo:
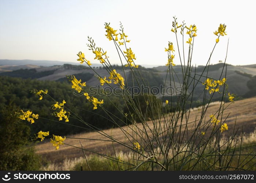
[[[246,97],[246,93],[251,93],[250,96],[253,95],[253,88],[248,87],[248,82],[252,81],[253,76],[256,76],[256,68],[253,67],[242,67],[242,66],[232,66],[226,65],[227,71],[223,72],[221,78],[227,78],[227,83],[229,85],[230,93],[235,93],[238,96]],[[94,70],[101,76],[109,76],[109,73],[103,69],[100,65],[99,67],[94,67]],[[113,65],[114,69],[120,74],[124,76],[123,69],[121,66]],[[18,69],[19,68],[19,69]],[[225,67],[226,68],[226,67]],[[2,71],[1,71],[2,69]],[[18,70],[17,70],[18,69]],[[164,85],[165,78],[166,78],[166,66],[158,66],[153,68],[145,68],[139,66],[138,68],[141,71],[142,76],[144,76],[144,80],[146,83],[149,83],[149,86],[160,86]],[[205,68],[203,66],[196,67],[196,79],[200,79],[200,82],[205,81],[205,76],[208,70],[208,77],[219,79],[220,74],[223,69],[223,63],[218,63],[215,65],[210,65],[209,68]],[[9,71],[9,72],[3,72]],[[11,71],[13,70],[13,71]],[[181,66],[174,66],[173,70],[175,71],[174,78],[167,79],[166,87],[168,86],[180,86],[179,82],[182,82],[179,79],[182,78],[182,67]],[[200,78],[200,75],[203,73],[203,76]],[[142,72],[143,71],[143,72]],[[192,75],[194,74],[194,68],[192,71]],[[41,81],[66,81],[67,75],[76,75],[79,76],[79,79],[86,80],[86,84],[88,86],[99,86],[100,82],[97,77],[95,77],[95,72],[91,70],[85,64],[64,64],[64,65],[55,65],[51,67],[46,66],[35,66],[35,65],[24,65],[24,66],[0,66],[0,76],[11,76],[11,77],[19,77],[19,78],[31,78],[31,79],[38,79]],[[133,86],[133,77],[130,76],[130,69],[125,67],[125,75],[127,77],[128,83],[126,86]],[[169,76],[168,76],[169,77]],[[254,80],[253,80],[254,81]],[[114,85],[113,83],[111,85]],[[134,85],[137,86],[136,81]],[[140,83],[141,85],[141,83]],[[104,87],[107,85],[104,85]],[[204,89],[204,85],[199,83],[194,92],[194,97],[199,98],[201,95],[201,91]],[[253,91],[252,91],[253,89]],[[189,91],[192,91],[192,86],[189,88]],[[197,92],[198,91],[198,92]],[[218,96],[218,95],[215,95]],[[160,96],[159,96],[160,97]],[[218,100],[218,98],[215,98]],[[169,100],[167,98],[167,100]]]

